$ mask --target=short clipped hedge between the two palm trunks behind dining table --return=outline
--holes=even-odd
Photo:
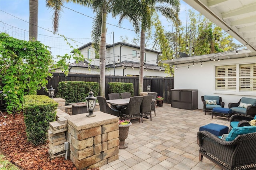
[[[130,92],[132,96],[134,96],[134,88],[132,83],[120,83],[120,82],[112,82],[108,83],[109,85],[109,93],[124,93]]]

